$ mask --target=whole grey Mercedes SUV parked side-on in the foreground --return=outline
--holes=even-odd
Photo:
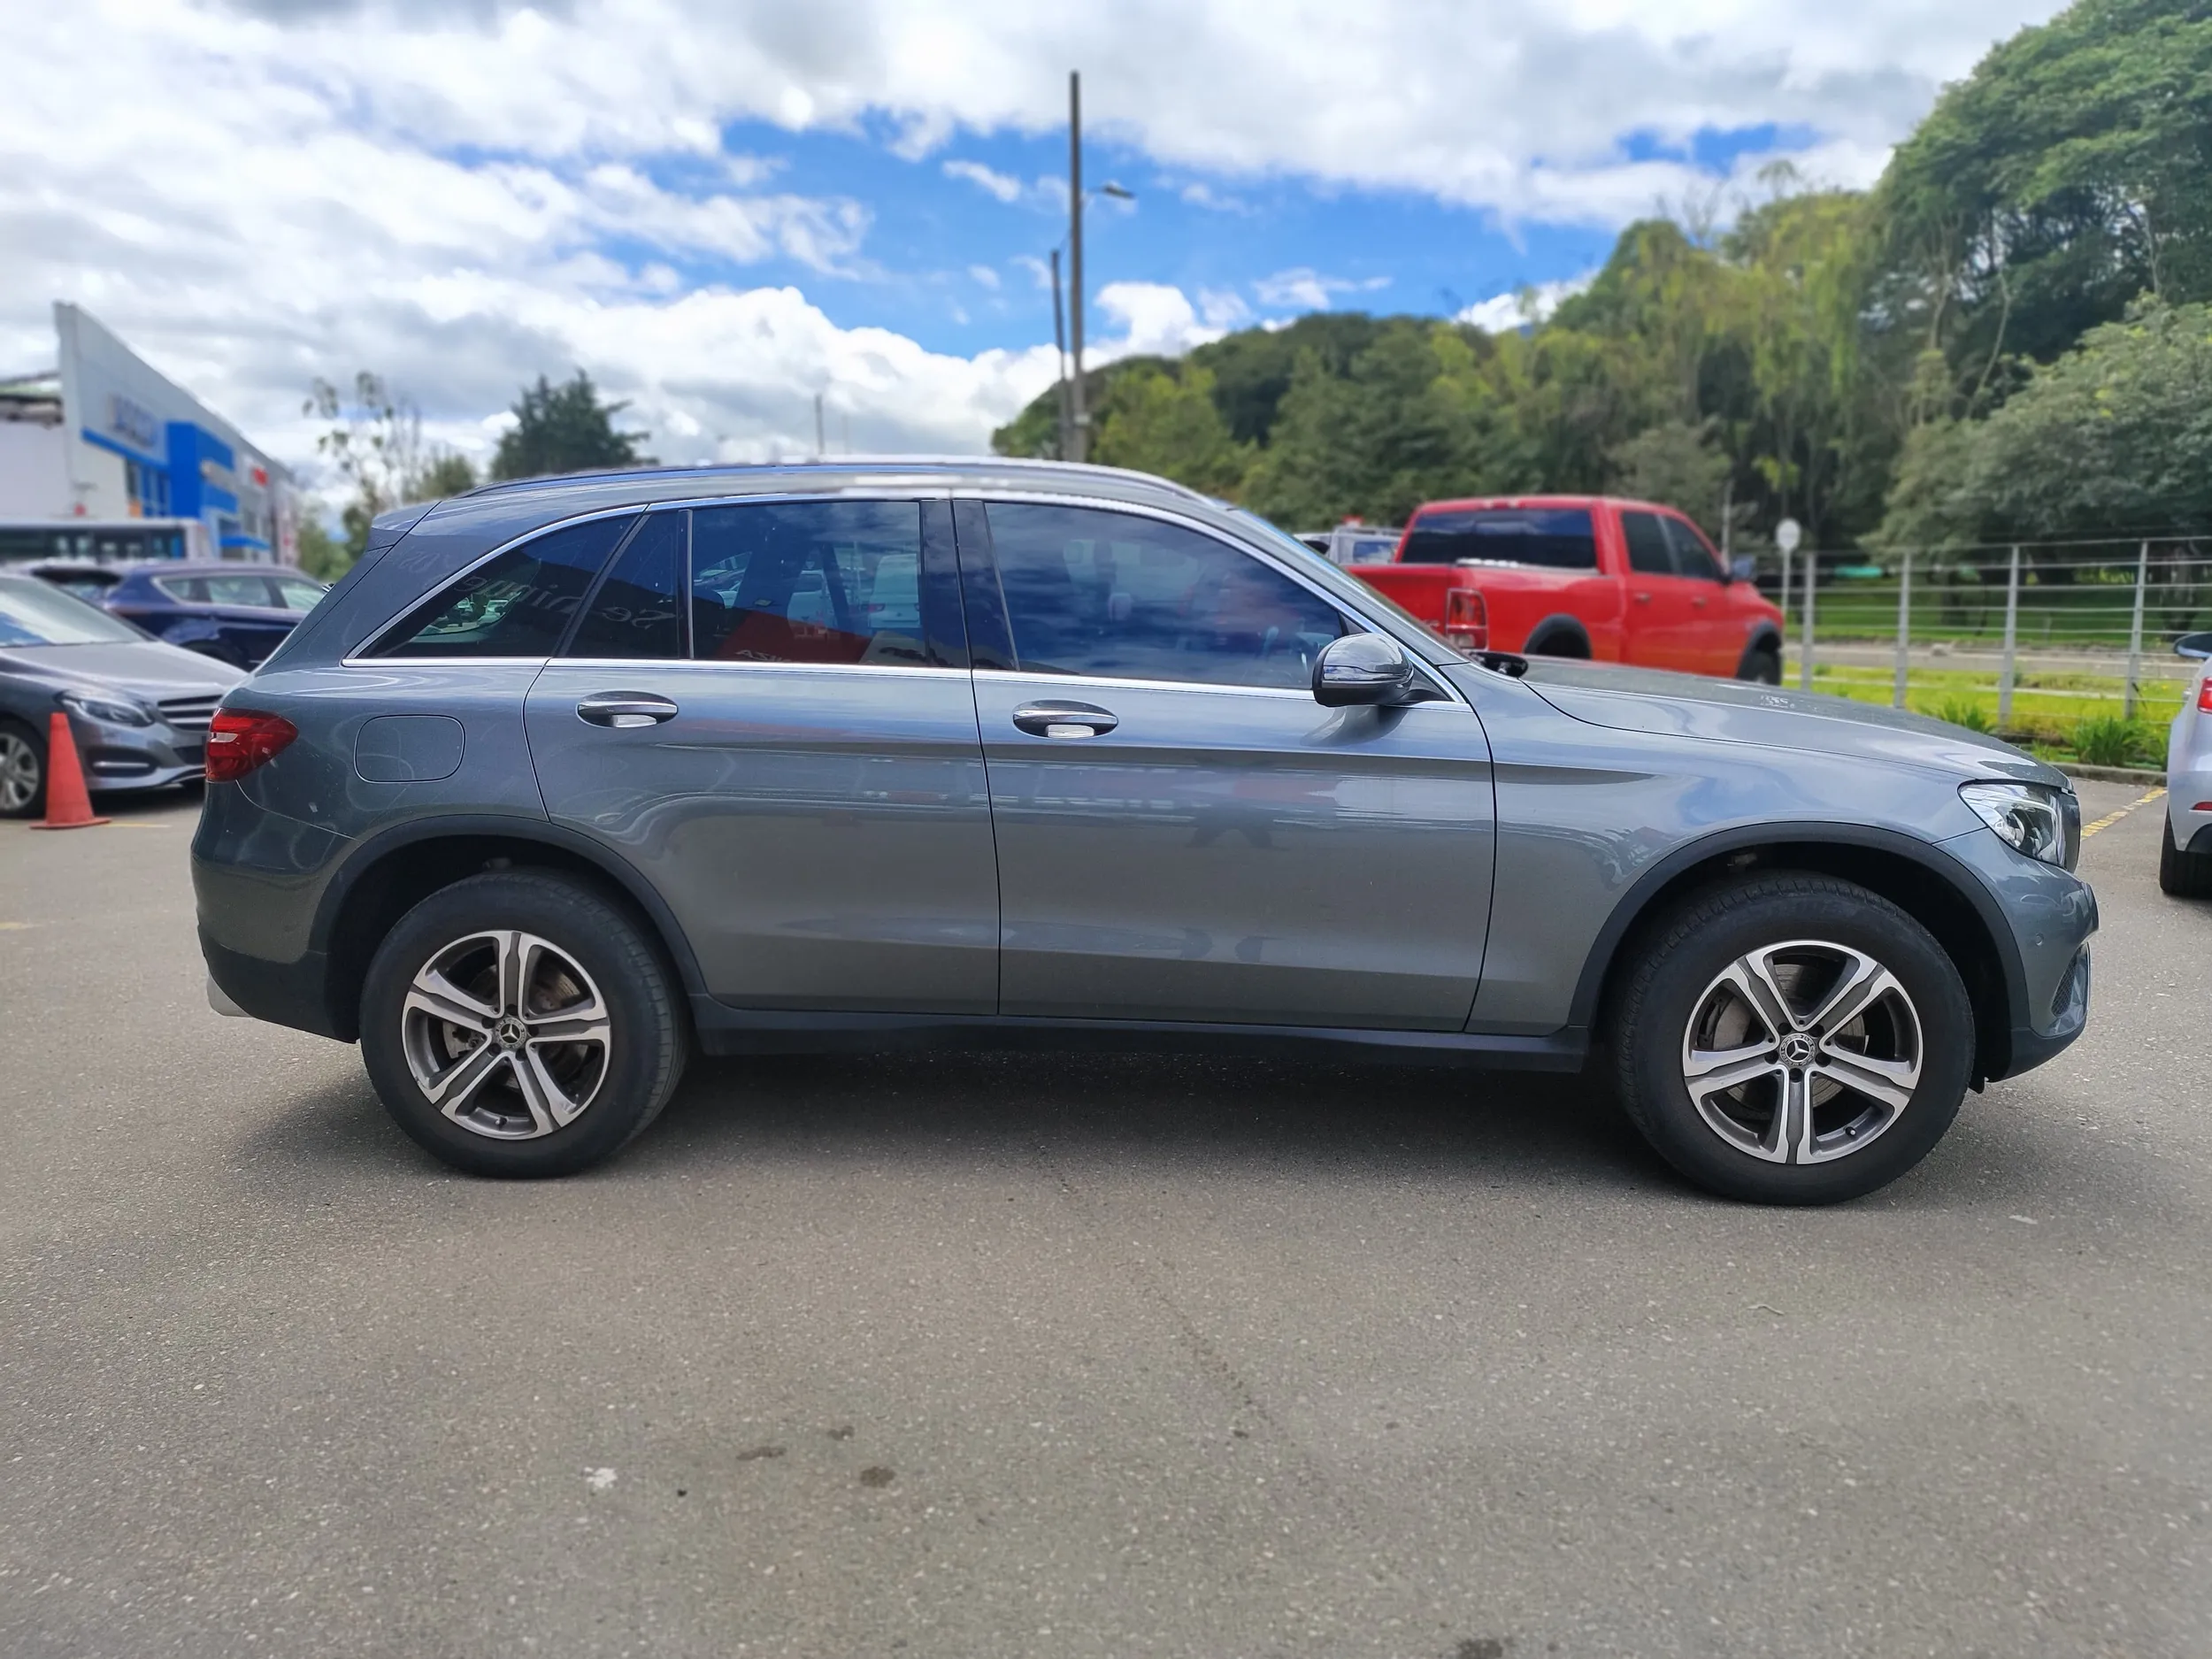
[[[376,522],[226,697],[210,995],[482,1175],[692,1048],[1265,1044],[1586,1073],[1847,1199],[2073,1042],[2066,779],[1933,721],[1467,659],[1274,526],[1013,460],[626,471]]]

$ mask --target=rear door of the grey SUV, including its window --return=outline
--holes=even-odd
[[[650,880],[745,1009],[998,1004],[951,509],[664,509],[529,695],[546,812]]]

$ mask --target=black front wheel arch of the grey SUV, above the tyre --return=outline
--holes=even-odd
[[[2011,927],[1973,874],[1942,847],[1871,825],[1792,834],[1752,825],[1703,836],[1648,869],[1613,907],[1575,984],[1568,1022],[1595,1031],[1637,960],[1644,933],[1683,896],[1752,869],[1838,876],[1880,894],[1936,936],[1973,1004],[1973,1082],[2011,1068],[2015,1011],[2028,1006],[2026,969]]]

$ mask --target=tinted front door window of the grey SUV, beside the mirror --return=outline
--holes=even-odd
[[[1303,690],[1314,657],[1343,633],[1321,595],[1177,524],[1002,502],[989,515],[1026,672]]]

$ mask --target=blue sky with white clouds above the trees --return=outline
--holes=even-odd
[[[1863,186],[2053,0],[0,0],[0,374],[75,301],[316,480],[383,374],[484,460],[584,367],[664,462],[980,451],[1091,361],[1513,327],[1772,161]]]

